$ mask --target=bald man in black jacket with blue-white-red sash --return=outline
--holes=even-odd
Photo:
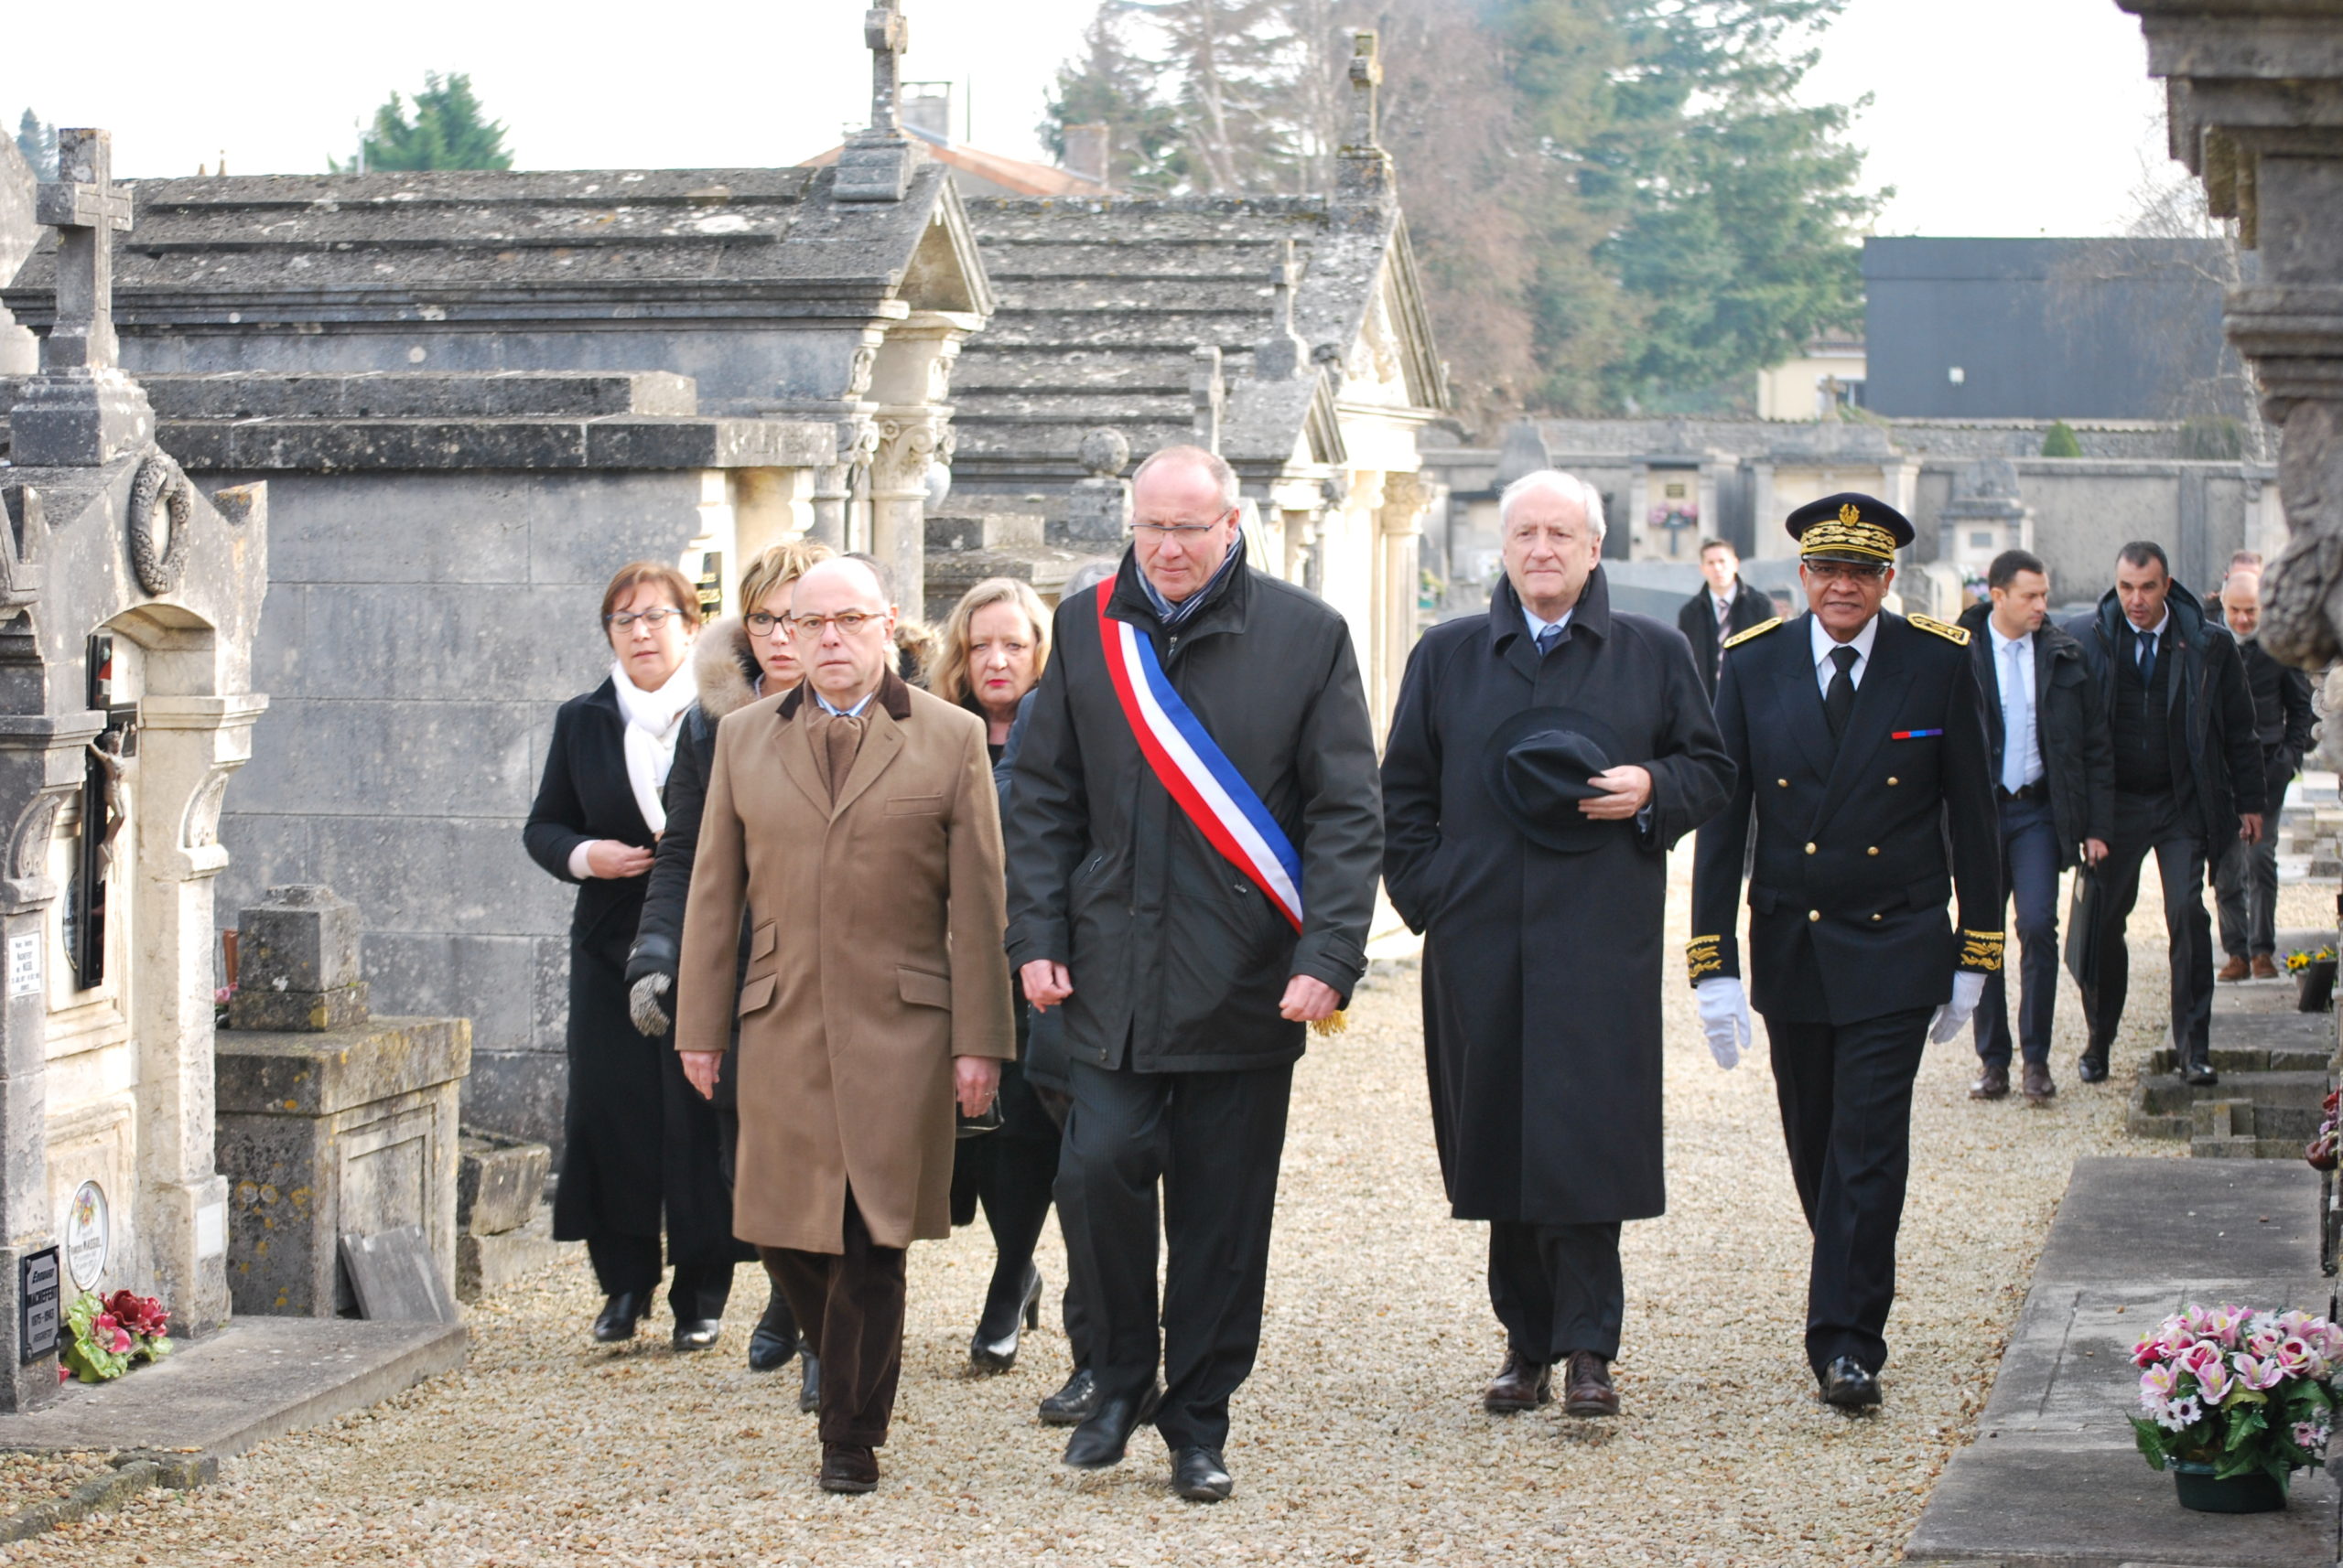
[[[1015,763],[1007,948],[1066,1016],[1057,1203],[1097,1374],[1066,1463],[1122,1460],[1153,1418],[1174,1488],[1211,1502],[1293,1062],[1366,971],[1375,740],[1350,630],[1246,566],[1237,475],[1200,447],[1132,475],[1132,550],[1059,604],[1052,648]]]

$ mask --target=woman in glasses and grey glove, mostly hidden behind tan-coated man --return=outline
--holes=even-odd
[[[717,751],[717,721],[757,697],[780,695],[804,679],[787,630],[790,592],[808,566],[827,562],[832,555],[829,545],[811,541],[780,543],[757,555],[740,573],[745,613],[710,625],[691,655],[698,700],[684,711],[675,772],[668,775],[668,831],[658,840],[651,887],[635,929],[635,950],[626,960],[628,1006],[635,1027],[661,1046],[668,1044],[668,1032],[675,1025],[675,962],[684,941],[684,901],[691,894],[691,859],[701,843],[701,807],[708,803],[708,763]],[[743,967],[745,962],[743,950]],[[703,1107],[698,1095],[689,1095],[689,1100],[694,1107]],[[733,1257],[745,1261],[754,1257],[754,1247],[731,1240],[731,1172],[740,1135],[731,1058],[717,1079],[715,1114],[722,1126],[717,1154],[722,1156],[724,1205],[710,1219],[719,1222],[717,1229],[731,1243]],[[705,1184],[691,1189],[703,1191]],[[750,1334],[747,1367],[750,1371],[778,1371],[799,1350],[806,1353],[806,1362],[797,1402],[799,1409],[811,1411],[820,1397],[820,1362],[813,1348],[801,1341],[797,1318],[790,1315],[790,1304],[776,1285]]]

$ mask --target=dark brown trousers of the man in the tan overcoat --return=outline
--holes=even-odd
[[[846,1189],[846,1252],[757,1247],[822,1360],[822,1442],[876,1449],[902,1383],[902,1247],[881,1247]]]

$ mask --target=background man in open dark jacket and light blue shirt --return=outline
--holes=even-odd
[[[2106,859],[2116,817],[2116,770],[2099,686],[2083,648],[2050,625],[2050,571],[2038,555],[2003,550],[1985,571],[1989,599],[1961,613],[1968,655],[1985,693],[1985,740],[2001,810],[2001,887],[2017,903],[2024,999],[2017,1048],[2022,1088],[2041,1105],[2050,1081],[2050,1023],[2057,1013],[2057,880],[2076,864]],[[1985,1070],[1970,1100],[2010,1093],[2008,964],[1985,976],[1973,1020]]]

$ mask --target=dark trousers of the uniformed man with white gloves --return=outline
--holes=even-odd
[[[1933,1011],[1846,1025],[1764,1020],[1790,1177],[1813,1231],[1806,1360],[1816,1376],[1842,1355],[1867,1371],[1888,1360],[1895,1231],[1912,1170],[1912,1079]]]

